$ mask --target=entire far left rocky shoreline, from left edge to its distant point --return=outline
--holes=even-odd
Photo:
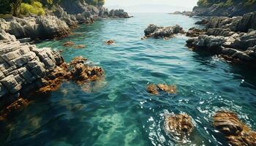
[[[15,35],[17,39],[54,39],[67,37],[78,24],[94,23],[101,18],[130,18],[123,9],[108,11],[105,7],[95,7],[84,1],[75,1],[72,6],[61,4],[54,12],[42,16],[25,18],[0,18],[0,30]]]

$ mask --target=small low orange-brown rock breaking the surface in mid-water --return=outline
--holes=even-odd
[[[146,89],[147,89],[148,93],[151,93],[154,95],[159,95],[160,92],[171,93],[171,94],[177,93],[176,85],[150,84],[147,86]]]

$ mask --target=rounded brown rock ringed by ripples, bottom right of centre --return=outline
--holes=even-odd
[[[165,116],[165,131],[179,140],[187,139],[193,128],[192,118],[187,114]]]

